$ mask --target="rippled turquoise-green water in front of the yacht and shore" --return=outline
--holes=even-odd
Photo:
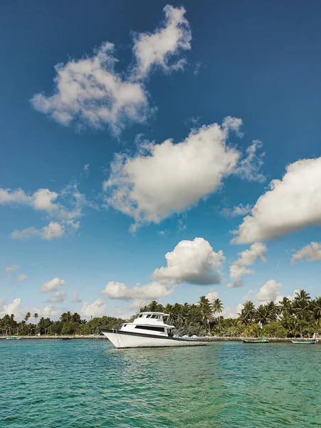
[[[0,340],[0,369],[1,428],[321,427],[321,345]]]

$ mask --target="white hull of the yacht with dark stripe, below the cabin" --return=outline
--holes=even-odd
[[[100,331],[117,348],[201,346],[209,343],[205,340],[190,340],[180,337],[148,335],[102,328],[100,328]]]

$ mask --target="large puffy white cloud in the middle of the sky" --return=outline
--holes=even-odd
[[[159,223],[214,193],[236,170],[241,152],[227,145],[231,131],[239,134],[241,119],[225,118],[191,131],[180,143],[144,143],[136,156],[117,154],[103,183],[106,205],[135,219]]]

